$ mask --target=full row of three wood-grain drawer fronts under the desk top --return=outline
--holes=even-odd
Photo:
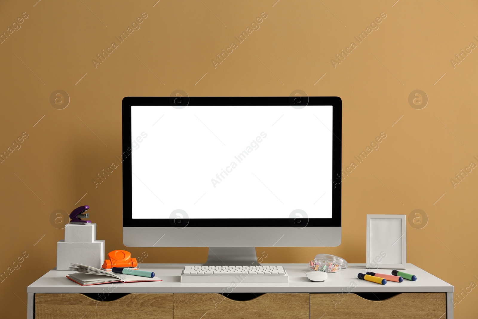
[[[378,293],[377,293],[378,294]],[[217,293],[35,294],[36,319],[445,319],[445,293],[402,293],[383,300],[357,294],[268,293],[224,297]],[[236,298],[232,296],[236,296]],[[372,294],[376,296],[375,294]],[[378,299],[378,298],[377,298]],[[381,299],[381,298],[380,298]]]

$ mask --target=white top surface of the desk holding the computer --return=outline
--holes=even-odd
[[[71,270],[51,270],[28,286],[28,293],[91,293],[103,292],[113,286],[117,293],[221,293],[232,283],[181,283],[180,275],[186,264],[141,264],[141,270],[153,271],[161,282],[108,284],[80,286],[65,276]],[[187,264],[200,265],[200,264]],[[389,281],[386,285],[371,283],[357,278],[358,273],[367,271],[391,274],[391,269],[367,270],[365,264],[348,264],[348,268],[329,274],[321,283],[311,282],[305,276],[307,264],[263,264],[281,265],[289,274],[288,283],[238,283],[233,292],[258,293],[341,293],[341,292],[453,292],[453,286],[418,268],[407,264],[402,270],[417,276],[416,281],[404,279],[402,283]],[[353,289],[352,289],[353,287]],[[225,289],[224,291],[222,289]],[[230,288],[229,288],[230,290]],[[111,289],[108,289],[111,291]]]

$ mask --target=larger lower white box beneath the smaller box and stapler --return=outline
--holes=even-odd
[[[68,270],[71,263],[101,268],[105,262],[105,241],[56,243],[56,270]]]

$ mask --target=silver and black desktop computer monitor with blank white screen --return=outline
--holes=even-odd
[[[122,122],[126,246],[244,265],[340,244],[340,98],[127,97]]]

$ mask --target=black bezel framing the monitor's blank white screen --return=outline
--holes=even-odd
[[[126,97],[122,101],[122,147],[123,153],[123,227],[177,227],[170,219],[133,219],[131,189],[131,107],[163,106],[174,103],[170,97]],[[291,105],[290,97],[187,97],[182,98],[188,107],[201,105]],[[342,100],[339,97],[302,97],[308,105],[332,105],[332,218],[311,218],[301,222],[306,227],[340,227],[342,224]],[[292,107],[292,106],[291,106]],[[337,177],[338,176],[338,177]],[[332,180],[336,180],[335,182]],[[288,218],[277,219],[189,219],[188,227],[294,227]]]

